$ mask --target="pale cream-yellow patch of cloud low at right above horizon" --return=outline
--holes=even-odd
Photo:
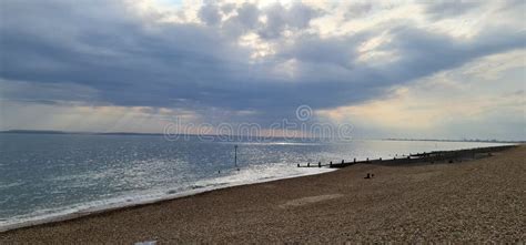
[[[388,132],[395,137],[522,140],[526,137],[526,101],[524,90],[517,88],[523,86],[526,74],[524,61],[515,58],[524,58],[525,52],[475,59],[396,86],[391,96],[318,113],[377,137]],[[488,64],[494,63],[506,68],[493,70]],[[492,75],[471,75],[481,67]]]

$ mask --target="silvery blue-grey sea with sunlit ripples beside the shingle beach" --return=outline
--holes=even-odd
[[[234,166],[234,145],[239,145]],[[198,137],[0,134],[0,227],[230,185],[330,171],[297,163],[393,157],[487,143],[203,142]]]

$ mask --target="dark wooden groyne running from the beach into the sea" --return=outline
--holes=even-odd
[[[385,164],[385,165],[397,165],[397,164],[411,164],[411,163],[454,163],[462,162],[474,159],[482,159],[490,156],[495,152],[508,150],[516,147],[516,145],[500,145],[500,146],[489,146],[489,147],[476,147],[467,150],[456,150],[456,151],[433,151],[433,152],[423,152],[409,155],[394,156],[393,159],[366,159],[363,161],[356,161],[353,159],[350,162],[345,160],[338,162],[328,162],[328,163],[306,163],[297,164],[297,167],[331,167],[331,169],[341,169],[351,166],[354,164]]]

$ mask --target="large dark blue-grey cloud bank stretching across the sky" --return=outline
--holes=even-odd
[[[91,99],[115,105],[249,110],[271,120],[300,104],[330,109],[381,96],[392,85],[525,43],[524,32],[516,30],[485,30],[459,41],[395,25],[322,38],[301,32],[321,14],[301,3],[264,10],[242,4],[221,27],[220,11],[225,8],[214,4],[199,13],[213,27],[153,23],[119,1],[7,0],[1,4],[1,79],[34,88],[75,84],[97,94]],[[259,22],[259,16],[267,22]],[[236,44],[236,38],[249,30],[284,43],[286,29],[300,32],[263,60],[252,61],[250,50]],[[360,43],[384,31],[393,41],[381,49],[393,51],[397,59],[382,65],[357,62]],[[293,74],[276,72],[287,64]],[[38,98],[52,101],[54,96]]]

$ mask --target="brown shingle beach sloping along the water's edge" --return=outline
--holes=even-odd
[[[462,163],[357,164],[9,231],[0,244],[525,242],[525,176],[524,145]]]

